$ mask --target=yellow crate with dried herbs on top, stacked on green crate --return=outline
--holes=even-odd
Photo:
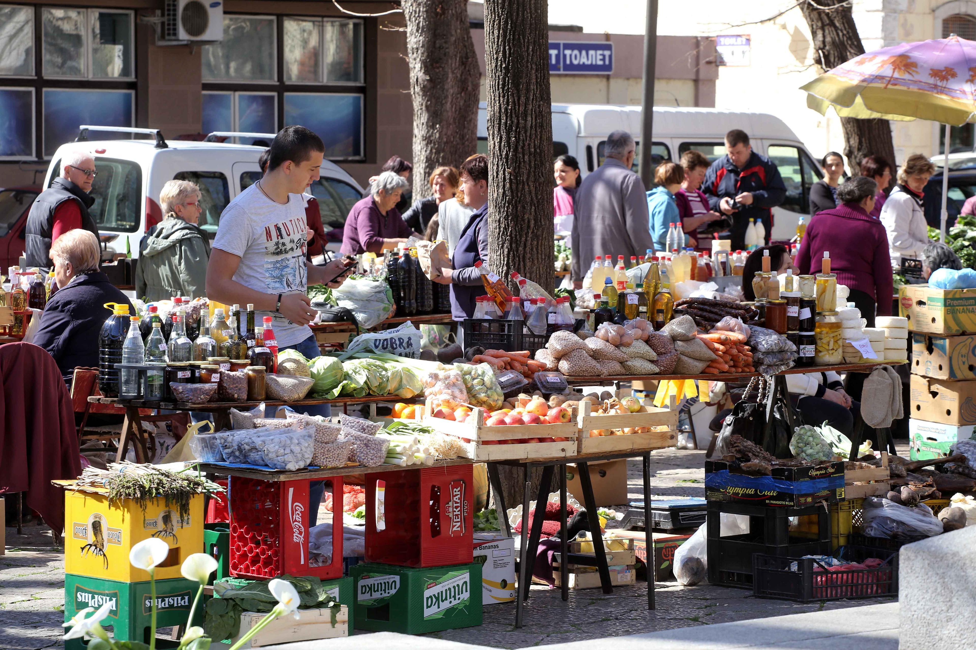
[[[64,572],[105,580],[139,583],[149,574],[129,562],[129,551],[150,537],[166,542],[170,554],[156,567],[156,580],[180,578],[180,565],[191,553],[203,552],[203,495],[190,499],[189,516],[180,518],[176,504],[153,499],[142,512],[124,500],[111,508],[107,491],[64,492]]]

